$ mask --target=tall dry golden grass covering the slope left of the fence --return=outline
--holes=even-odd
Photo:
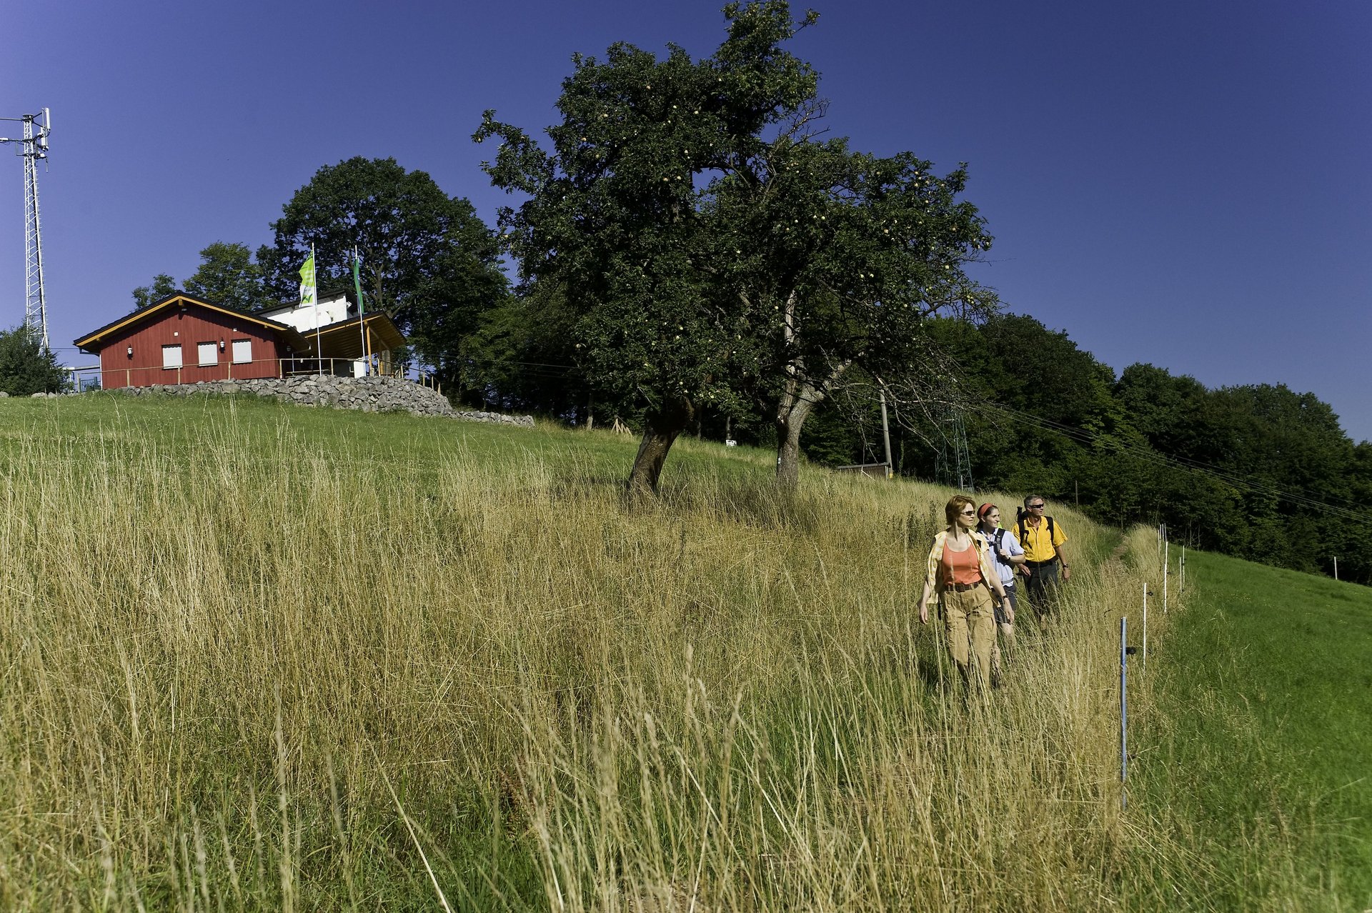
[[[451,433],[416,463],[206,410],[0,463],[5,909],[1091,909],[1147,877],[1115,728],[1147,532],[1107,561],[1055,510],[1059,624],[965,695],[914,610],[947,492],[697,461],[634,506],[572,433],[490,461],[416,422]]]

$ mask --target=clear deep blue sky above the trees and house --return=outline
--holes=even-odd
[[[54,112],[54,344],[128,311],[155,273],[184,280],[211,241],[266,243],[291,193],[354,155],[423,169],[493,222],[490,149],[469,140],[483,108],[542,130],[573,52],[707,55],[722,5],[7,0],[0,117]],[[967,162],[996,236],[977,273],[1013,310],[1117,372],[1310,391],[1372,439],[1372,4],[815,8],[794,49],[822,74],[830,130]],[[0,325],[23,315],[12,148]]]

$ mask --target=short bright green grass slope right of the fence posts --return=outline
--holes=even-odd
[[[1154,654],[1136,768],[1177,897],[1372,908],[1372,591],[1220,555],[1187,565],[1191,607]]]

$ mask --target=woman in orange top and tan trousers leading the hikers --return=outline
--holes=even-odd
[[[991,654],[996,646],[995,600],[1006,598],[1000,577],[991,566],[986,540],[975,533],[977,506],[966,495],[954,495],[944,507],[948,529],[934,536],[925,562],[925,588],[919,596],[919,622],[929,624],[929,595],[938,594],[948,653],[963,681],[973,677],[989,684]]]

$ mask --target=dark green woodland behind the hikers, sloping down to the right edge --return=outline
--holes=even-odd
[[[1350,521],[1318,504],[1372,503],[1372,444],[1325,403],[1283,385],[1206,389],[1152,365],[1113,372],[1066,333],[1024,315],[933,319],[955,366],[978,488],[1036,491],[1107,524],[1168,524],[1194,547],[1372,583]],[[944,446],[933,407],[892,404],[897,472],[932,478]],[[804,452],[825,465],[881,459],[877,388],[856,373],[820,404]]]

